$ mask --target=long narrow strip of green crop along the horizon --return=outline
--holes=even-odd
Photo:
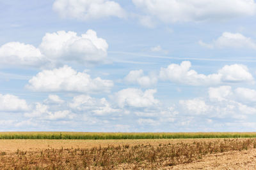
[[[0,132],[0,139],[195,139],[256,138],[256,132]]]

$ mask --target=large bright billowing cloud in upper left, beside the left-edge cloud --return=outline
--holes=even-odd
[[[108,43],[98,38],[93,30],[81,36],[72,31],[58,31],[46,33],[39,49],[52,62],[64,60],[95,64],[105,59]]]

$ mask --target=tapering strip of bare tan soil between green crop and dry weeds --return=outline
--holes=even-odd
[[[38,151],[47,148],[93,148],[108,145],[159,145],[168,143],[192,143],[194,141],[216,141],[223,139],[121,139],[121,140],[62,140],[62,139],[0,139],[1,152]]]

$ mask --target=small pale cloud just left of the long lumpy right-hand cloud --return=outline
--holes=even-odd
[[[125,76],[124,80],[127,83],[138,83],[142,87],[150,87],[151,85],[155,85],[157,83],[157,76],[154,74],[144,76],[143,70],[140,69],[130,71],[129,74]]]

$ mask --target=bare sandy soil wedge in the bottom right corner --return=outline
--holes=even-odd
[[[206,155],[196,162],[163,169],[256,169],[256,149]]]

